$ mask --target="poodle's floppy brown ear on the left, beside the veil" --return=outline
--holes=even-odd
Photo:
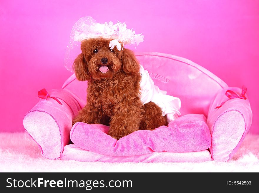
[[[85,81],[90,80],[90,74],[88,71],[87,62],[84,59],[84,54],[81,53],[74,61],[74,72],[78,80]]]

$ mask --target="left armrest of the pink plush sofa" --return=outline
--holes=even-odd
[[[69,134],[72,119],[82,108],[74,95],[63,89],[50,90],[53,98],[40,99],[39,102],[25,115],[24,129],[35,140],[42,155],[49,159],[58,159],[64,146],[70,142]]]

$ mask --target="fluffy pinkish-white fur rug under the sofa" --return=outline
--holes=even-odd
[[[103,163],[48,160],[26,133],[0,133],[0,172],[259,172],[259,135],[247,135],[228,162]]]

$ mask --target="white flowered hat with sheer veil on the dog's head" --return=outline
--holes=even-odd
[[[125,23],[117,22],[99,24],[92,17],[86,16],[80,18],[73,26],[70,33],[70,41],[67,45],[64,66],[67,70],[73,72],[74,59],[81,53],[81,42],[92,38],[112,39],[109,42],[110,49],[115,46],[119,51],[123,50],[125,44],[137,44],[144,41],[142,33],[135,34],[132,29],[127,29]]]

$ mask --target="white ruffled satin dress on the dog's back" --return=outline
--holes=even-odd
[[[149,103],[150,101],[156,103],[161,108],[162,115],[167,116],[168,122],[178,118],[178,115],[181,115],[179,111],[181,108],[180,98],[167,95],[165,90],[160,90],[158,86],[154,84],[148,71],[144,70],[143,66],[140,66],[140,73],[142,75],[140,81],[140,100],[144,104]]]

